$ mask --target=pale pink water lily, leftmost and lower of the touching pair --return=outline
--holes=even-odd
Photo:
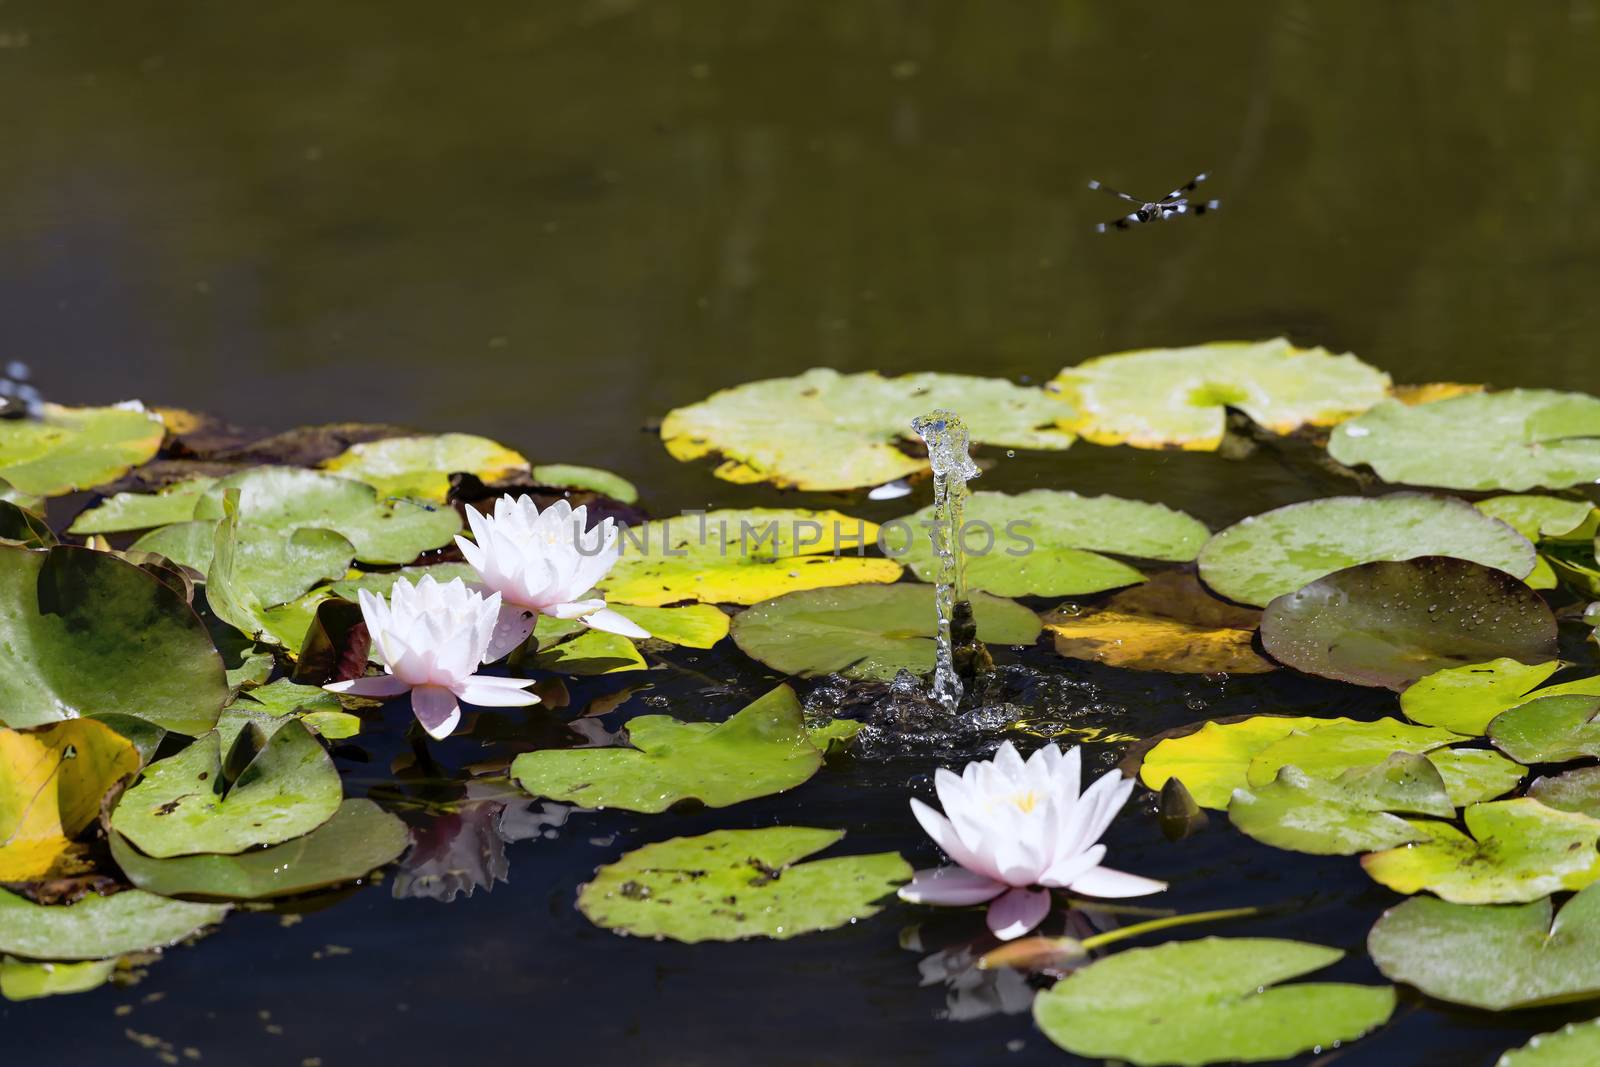
[[[459,577],[440,585],[424,574],[413,585],[395,579],[386,601],[360,590],[362,617],[386,673],[323,686],[333,693],[390,697],[411,694],[411,710],[434,739],[461,723],[461,701],[482,707],[526,707],[531,680],[474,673],[499,621],[499,593],[483,597]]]

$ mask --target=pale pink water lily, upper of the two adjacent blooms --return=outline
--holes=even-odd
[[[504,601],[485,662],[528,640],[541,614],[622,637],[650,637],[592,595],[622,555],[614,520],[587,530],[587,506],[555,501],[541,512],[531,496],[502,496],[493,515],[469,507],[467,523],[474,541],[456,537],[456,545],[483,587]]]

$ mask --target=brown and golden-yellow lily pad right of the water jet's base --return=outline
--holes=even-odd
[[[1056,651],[1131,670],[1264,673],[1254,649],[1261,613],[1218,600],[1192,574],[1170,571],[1125,589],[1101,608],[1045,616]]]

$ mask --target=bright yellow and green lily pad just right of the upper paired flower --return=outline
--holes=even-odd
[[[715,510],[645,523],[600,582],[613,606],[683,600],[752,605],[797,589],[893,582],[901,565],[858,555],[875,523],[794,509]],[[837,555],[835,555],[837,552]]]

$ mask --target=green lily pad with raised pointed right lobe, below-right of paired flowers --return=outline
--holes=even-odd
[[[534,797],[656,813],[683,800],[726,808],[781,793],[822,766],[786,685],[725,723],[640,715],[629,720],[627,737],[632,749],[525,752],[510,773]]]

